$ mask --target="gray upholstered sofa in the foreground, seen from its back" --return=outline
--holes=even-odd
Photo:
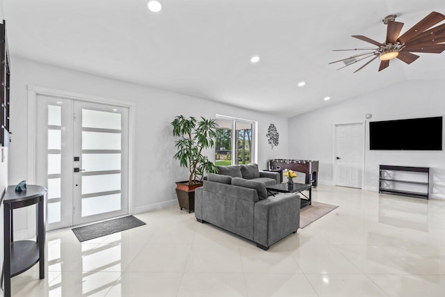
[[[268,197],[266,185],[228,175],[209,174],[195,190],[195,216],[269,247],[300,227],[300,196],[280,193]]]

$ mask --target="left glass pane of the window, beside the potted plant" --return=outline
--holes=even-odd
[[[216,166],[232,165],[232,120],[216,119]]]

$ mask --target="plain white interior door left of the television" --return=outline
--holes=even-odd
[[[337,186],[362,188],[363,125],[335,126],[334,182]]]

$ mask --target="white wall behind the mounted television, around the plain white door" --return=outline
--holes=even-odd
[[[371,121],[445,115],[444,94],[445,81],[404,81],[290,118],[289,156],[296,159],[319,160],[320,182],[332,184],[335,124],[364,122],[366,113],[372,113]],[[380,164],[425,166],[432,168],[431,180],[432,184],[436,184],[430,188],[432,197],[445,197],[445,151],[370,151],[368,131],[369,124],[366,122],[363,188],[378,190]]]

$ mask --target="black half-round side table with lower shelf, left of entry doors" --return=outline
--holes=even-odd
[[[15,186],[8,186],[3,197],[4,221],[4,264],[3,280],[5,297],[11,295],[11,278],[27,271],[39,262],[40,280],[44,278],[44,195],[43,186],[28,185],[26,191],[15,192]],[[13,210],[37,204],[37,240],[14,241]]]

